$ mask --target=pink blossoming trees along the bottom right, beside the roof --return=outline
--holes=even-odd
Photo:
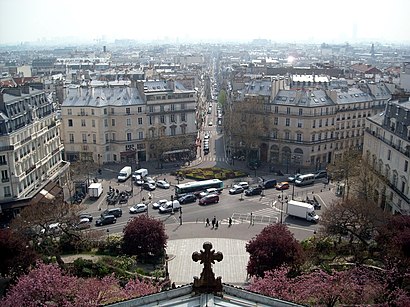
[[[410,297],[403,290],[390,288],[385,272],[365,267],[344,271],[315,270],[292,277],[281,267],[256,278],[249,289],[267,296],[310,306],[336,306],[389,303],[408,306]]]

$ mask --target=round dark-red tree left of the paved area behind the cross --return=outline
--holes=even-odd
[[[160,257],[164,254],[167,239],[164,223],[144,214],[125,226],[122,249],[128,255]]]

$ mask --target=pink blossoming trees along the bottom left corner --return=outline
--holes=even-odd
[[[113,276],[77,278],[64,274],[52,264],[38,263],[37,268],[18,279],[0,305],[8,306],[102,306],[120,300],[158,292],[159,287],[138,279],[124,288]]]

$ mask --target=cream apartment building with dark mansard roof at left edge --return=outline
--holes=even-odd
[[[0,206],[4,213],[33,198],[50,181],[64,182],[60,122],[51,93],[28,85],[0,93]],[[26,202],[26,203],[25,203]]]

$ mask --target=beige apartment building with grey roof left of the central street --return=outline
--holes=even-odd
[[[69,90],[61,107],[67,160],[135,165],[157,159],[153,143],[164,137],[169,151],[191,149],[197,131],[196,101],[195,91],[164,80]],[[173,143],[178,136],[190,141]]]

